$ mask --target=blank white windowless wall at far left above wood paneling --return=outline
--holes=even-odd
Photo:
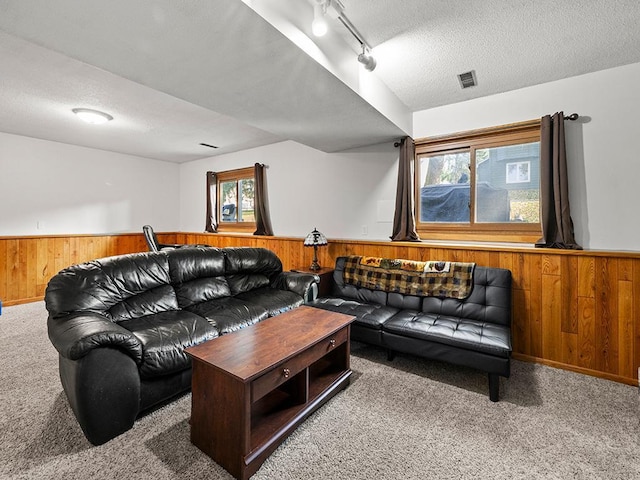
[[[178,227],[177,164],[0,133],[0,235]]]

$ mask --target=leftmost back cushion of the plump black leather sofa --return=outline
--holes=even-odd
[[[163,253],[133,253],[73,265],[55,275],[45,303],[53,318],[94,312],[114,322],[178,308]]]

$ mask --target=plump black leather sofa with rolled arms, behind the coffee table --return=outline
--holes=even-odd
[[[262,248],[183,248],[71,266],[49,282],[49,338],[87,437],[102,444],[191,388],[184,349],[296,308],[317,277]]]

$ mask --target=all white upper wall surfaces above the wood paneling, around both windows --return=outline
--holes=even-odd
[[[577,241],[640,251],[638,84],[640,63],[425,110],[414,137],[579,113],[565,123]],[[288,141],[177,165],[0,133],[0,235],[203,231],[205,172],[260,162],[276,235],[387,240],[397,160],[391,143],[326,154]]]

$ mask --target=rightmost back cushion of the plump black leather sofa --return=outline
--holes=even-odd
[[[282,272],[278,256],[266,248],[223,249],[225,274],[232,295],[268,286]]]

